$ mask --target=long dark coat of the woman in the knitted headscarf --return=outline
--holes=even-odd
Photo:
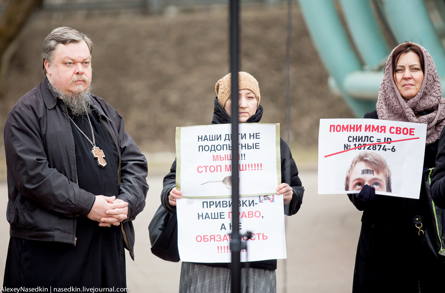
[[[378,119],[376,110],[364,118]],[[425,146],[424,168],[434,167],[437,145],[438,141]],[[354,194],[348,197],[363,211],[352,292],[417,293],[419,286],[422,293],[432,292],[445,270],[429,258],[413,223],[413,210],[417,210],[423,227],[431,227],[424,187],[418,200],[377,195],[374,201],[364,202]]]

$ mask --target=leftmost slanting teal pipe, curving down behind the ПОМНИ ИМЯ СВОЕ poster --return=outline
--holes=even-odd
[[[343,80],[352,71],[360,71],[360,60],[348,40],[332,0],[300,0],[308,31],[328,72],[357,117],[376,108],[375,101],[356,100],[348,95]]]

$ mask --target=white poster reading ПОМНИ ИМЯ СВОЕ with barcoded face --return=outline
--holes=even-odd
[[[376,119],[320,119],[318,193],[419,198],[426,124]]]

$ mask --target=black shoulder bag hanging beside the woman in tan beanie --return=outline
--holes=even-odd
[[[151,253],[165,261],[180,261],[178,251],[178,218],[176,213],[169,213],[159,206],[150,225]]]

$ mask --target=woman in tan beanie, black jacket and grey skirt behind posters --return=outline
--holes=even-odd
[[[239,72],[239,122],[259,122],[263,115],[263,106],[259,104],[260,93],[258,81],[247,72]],[[218,95],[214,100],[212,124],[231,123],[231,75],[230,73],[218,80],[215,85]],[[283,194],[284,213],[295,214],[303,200],[303,186],[298,177],[298,170],[292,159],[291,151],[283,139],[280,139],[281,178],[277,194]],[[161,201],[164,208],[176,212],[176,200],[182,198],[182,193],[175,188],[176,160],[170,173],[164,177],[164,188]],[[179,292],[225,293],[231,291],[230,263],[190,263],[182,262]],[[242,265],[241,291],[247,293],[276,292],[275,269],[276,260],[253,261],[246,268]],[[246,277],[247,276],[247,277]]]

